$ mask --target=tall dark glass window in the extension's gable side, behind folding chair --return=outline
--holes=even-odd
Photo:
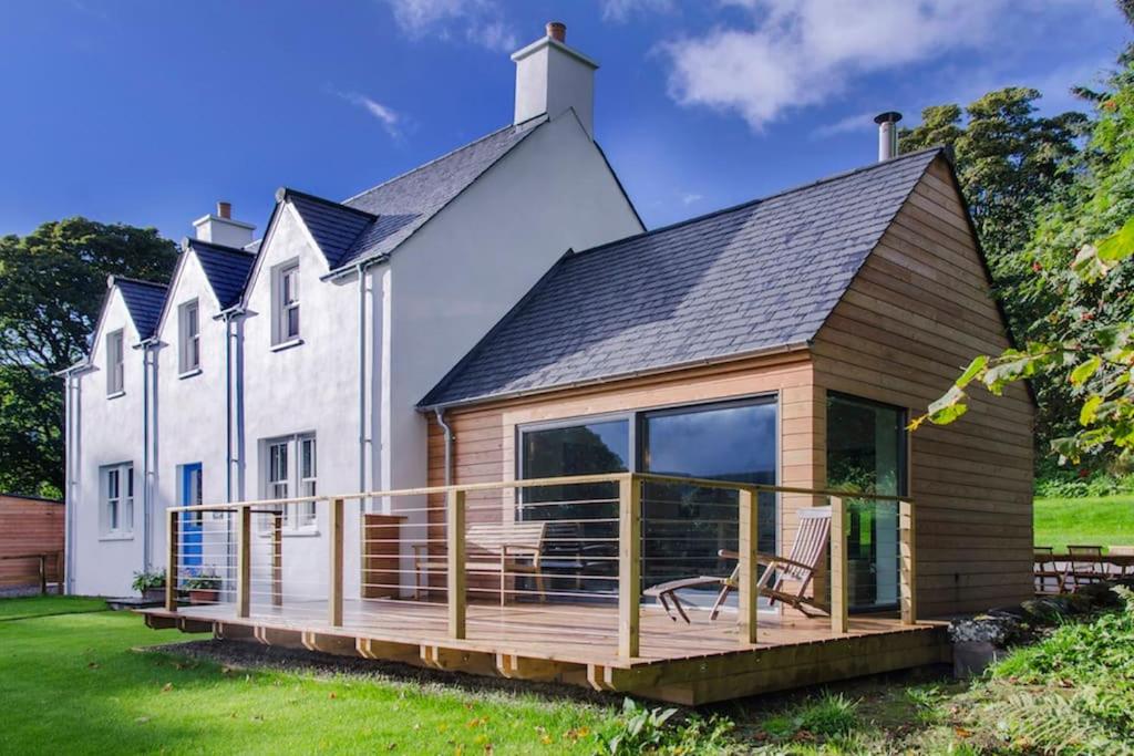
[[[841,491],[906,492],[905,410],[837,393],[827,399],[827,482]],[[898,601],[898,509],[891,501],[847,499],[850,605]]]

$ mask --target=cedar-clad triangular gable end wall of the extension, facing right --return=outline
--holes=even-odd
[[[978,354],[1008,346],[948,167],[938,159],[813,347],[826,389],[921,414]],[[911,441],[917,580],[925,617],[1032,592],[1032,419],[1022,387],[974,392],[948,426]]]

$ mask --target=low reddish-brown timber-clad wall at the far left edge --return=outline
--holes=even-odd
[[[59,502],[0,494],[0,558],[64,550],[64,506]],[[56,579],[57,564],[48,561]],[[35,559],[0,559],[0,586],[32,585],[40,579]]]

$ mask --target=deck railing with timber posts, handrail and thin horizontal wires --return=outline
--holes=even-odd
[[[585,494],[578,494],[579,491]],[[507,492],[514,492],[511,501]],[[344,627],[348,593],[352,600],[383,597],[389,602],[416,603],[437,603],[433,596],[443,594],[447,609],[443,620],[438,621],[443,621],[448,638],[465,639],[469,631],[471,594],[479,598],[498,597],[501,613],[494,620],[497,623],[505,622],[509,606],[523,609],[523,602],[607,602],[617,604],[613,630],[618,656],[633,659],[640,655],[642,596],[646,587],[643,581],[654,579],[653,576],[661,574],[659,570],[695,575],[693,570],[705,568],[716,558],[712,545],[727,542],[735,544],[739,554],[735,585],[737,637],[741,644],[751,645],[759,643],[760,500],[767,496],[809,502],[804,506],[830,504],[829,575],[826,581],[816,581],[814,591],[818,594],[829,587],[831,631],[839,635],[849,630],[847,501],[866,500],[896,507],[900,617],[904,623],[916,622],[915,524],[911,499],[646,473],[170,508],[166,609],[178,611],[188,585],[201,586],[213,577],[213,603],[231,603],[236,618],[249,618],[254,606],[266,608],[263,611],[281,609],[287,596],[289,605],[294,604],[295,611],[312,627]],[[345,530],[350,513],[347,502],[353,502],[358,515],[357,583],[347,579]],[[523,515],[508,516],[509,507]],[[313,534],[294,527],[302,517],[301,508],[314,508],[313,520],[325,528],[318,533],[318,538],[296,538],[296,543],[307,549],[304,560],[328,560],[325,578],[321,570],[310,569],[293,569],[285,576],[286,534]],[[560,516],[549,518],[541,513],[541,508],[553,508]],[[325,511],[322,518],[318,516],[321,510]],[[502,525],[475,525],[473,520],[484,520],[483,512],[490,512],[489,519],[494,517],[493,521]],[[692,523],[689,512],[694,512]],[[572,516],[562,517],[564,513]],[[523,536],[526,542],[510,543],[513,534],[517,538],[523,534],[507,529],[506,524],[522,517],[525,523],[542,521],[558,528],[574,525],[577,532],[569,536],[558,530],[548,535],[535,528],[541,538],[535,545],[531,538],[536,536],[530,533]],[[784,519],[790,517],[786,513]],[[491,541],[488,557],[485,541]],[[585,559],[576,554],[560,557],[558,561],[576,564],[579,571],[574,576],[553,572],[551,563],[556,560],[543,552],[564,553],[572,549],[575,550],[572,554],[585,552]],[[322,557],[314,553],[319,551]],[[353,551],[349,555],[355,557]],[[497,558],[498,566],[493,563]],[[561,587],[572,580],[573,587]],[[318,613],[310,613],[308,609],[304,615],[305,610],[299,606],[310,606],[315,601],[325,601],[325,609],[314,610]]]

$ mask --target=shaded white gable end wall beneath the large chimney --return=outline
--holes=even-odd
[[[542,126],[391,258],[383,487],[426,483],[416,404],[569,248],[642,230],[573,113]],[[420,507],[421,502],[412,502]]]

